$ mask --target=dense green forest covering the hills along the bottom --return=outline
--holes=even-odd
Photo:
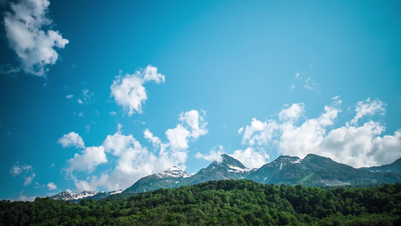
[[[0,225],[401,225],[401,183],[369,188],[208,181],[79,203],[0,201]]]

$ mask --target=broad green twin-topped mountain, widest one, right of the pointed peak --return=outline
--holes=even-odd
[[[302,184],[305,186],[364,185],[401,181],[396,173],[373,173],[338,163],[330,158],[308,154],[304,159],[279,156],[246,177],[260,183]]]

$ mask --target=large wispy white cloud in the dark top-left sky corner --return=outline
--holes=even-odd
[[[11,3],[12,12],[4,14],[4,28],[10,47],[18,55],[21,67],[37,76],[46,76],[48,65],[55,64],[59,54],[69,41],[59,31],[43,30],[52,24],[46,17],[48,0],[20,0]]]

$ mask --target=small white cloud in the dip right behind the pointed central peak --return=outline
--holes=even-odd
[[[248,168],[259,168],[269,161],[269,155],[263,150],[246,148],[245,150],[236,150],[229,156],[239,160]]]

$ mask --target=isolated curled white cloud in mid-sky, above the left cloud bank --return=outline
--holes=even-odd
[[[135,112],[142,113],[142,105],[148,99],[144,83],[155,81],[157,84],[164,82],[164,75],[157,73],[157,68],[148,65],[145,69],[140,69],[134,74],[122,76],[122,71],[115,77],[110,86],[111,97],[114,97],[117,105],[122,106],[128,111],[128,116]]]

